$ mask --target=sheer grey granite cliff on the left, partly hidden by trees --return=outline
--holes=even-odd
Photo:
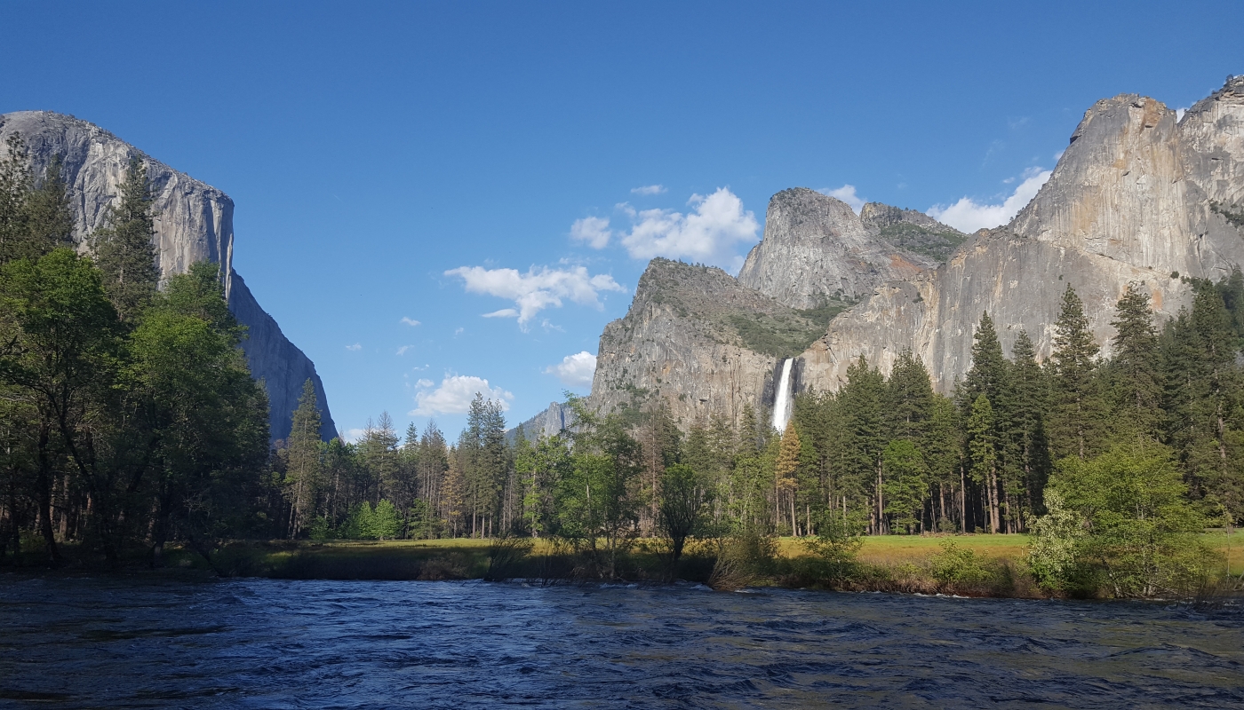
[[[87,237],[100,226],[107,206],[117,199],[131,155],[139,155],[156,194],[156,245],[163,279],[184,272],[197,261],[221,266],[229,307],[249,328],[243,349],[250,372],[267,387],[272,439],[290,433],[302,383],[315,383],[326,439],[337,435],[328,413],[323,384],[315,364],[294,346],[255,301],[233,270],[233,200],[220,190],[153,160],[112,133],[78,118],[47,111],[20,111],[0,116],[0,143],[20,132],[30,150],[36,177],[53,155],[63,159],[65,179],[72,189],[77,224],[75,240],[88,251]]]

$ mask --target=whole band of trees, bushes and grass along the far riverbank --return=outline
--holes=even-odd
[[[571,397],[575,425],[551,436],[508,433],[476,397],[453,440],[382,414],[325,443],[309,382],[269,446],[216,267],[158,290],[141,160],[121,195],[82,256],[57,164],[36,180],[20,141],[0,162],[0,562],[159,567],[175,543],[221,574],[1141,598],[1235,584],[1204,530],[1244,520],[1239,271],[1189,281],[1192,307],[1161,330],[1130,285],[1111,359],[1071,286],[1044,363],[1023,332],[1006,357],[984,313],[953,395],[909,351],[888,376],[861,357],[837,392],[800,393],[780,433],[751,408],[674,422],[636,390],[607,413]],[[922,556],[868,557],[931,535]],[[967,542],[1014,535],[1005,556]],[[335,542],[394,540],[476,542]]]

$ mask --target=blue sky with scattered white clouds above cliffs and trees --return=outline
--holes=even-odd
[[[1187,107],[1244,73],[1235,1],[0,16],[0,112],[72,113],[234,199],[234,266],[343,433],[387,410],[454,435],[484,379],[511,423],[586,392],[647,259],[736,267],[784,188],[989,221],[1098,98]]]

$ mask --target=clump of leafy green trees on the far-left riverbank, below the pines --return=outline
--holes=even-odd
[[[80,542],[118,563],[126,547],[265,528],[267,399],[238,348],[214,270],[175,276],[123,323],[100,270],[70,249],[0,274],[0,429],[16,434],[7,510],[31,510],[52,562]]]

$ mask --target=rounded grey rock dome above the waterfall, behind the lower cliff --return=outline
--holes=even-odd
[[[902,215],[898,223],[908,224]],[[794,188],[769,200],[765,236],[748,254],[739,284],[792,308],[815,308],[867,296],[878,284],[911,279],[935,262],[889,244],[846,203]]]

